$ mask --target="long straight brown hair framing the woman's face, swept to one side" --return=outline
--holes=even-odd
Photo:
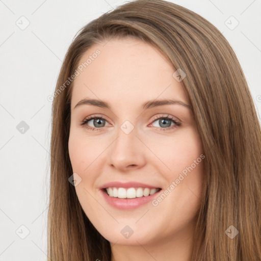
[[[64,83],[91,46],[125,36],[152,44],[187,74],[182,84],[205,155],[203,200],[190,260],[260,261],[261,131],[244,73],[214,25],[162,0],[119,6],[88,23],[69,46],[52,111],[48,258],[111,260],[110,243],[86,217],[68,181],[73,81]],[[239,233],[232,239],[228,233],[235,229]]]

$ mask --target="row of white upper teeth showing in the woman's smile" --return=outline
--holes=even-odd
[[[106,188],[106,191],[110,197],[115,198],[140,198],[140,197],[147,197],[149,195],[153,195],[158,192],[160,189],[149,189],[149,188]]]

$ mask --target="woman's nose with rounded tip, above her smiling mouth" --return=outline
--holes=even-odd
[[[117,138],[108,150],[107,163],[120,172],[142,168],[145,165],[145,153],[146,146],[137,136],[135,128],[128,134],[119,128]]]

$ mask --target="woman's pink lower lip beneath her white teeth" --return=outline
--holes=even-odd
[[[133,208],[137,208],[141,205],[144,205],[150,202],[154,197],[158,196],[158,192],[153,195],[149,195],[147,197],[140,198],[115,198],[110,197],[105,191],[101,190],[101,193],[105,200],[113,207],[120,208],[121,210],[132,210]]]

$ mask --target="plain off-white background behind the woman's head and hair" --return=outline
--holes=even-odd
[[[261,1],[170,2],[198,13],[223,33],[241,63],[260,115]],[[47,258],[51,127],[47,96],[55,91],[62,61],[75,34],[89,21],[123,3],[0,1],[0,261]],[[19,131],[18,124],[24,124],[21,121],[29,127],[24,133]]]

